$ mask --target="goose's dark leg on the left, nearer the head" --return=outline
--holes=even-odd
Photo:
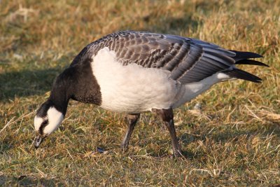
[[[122,144],[120,144],[120,148],[123,149],[123,151],[127,151],[128,144],[130,144],[130,137],[132,135],[132,131],[134,130],[134,127],[137,123],[137,120],[139,119],[140,113],[137,114],[127,114],[127,132],[125,132],[125,137],[123,137]]]

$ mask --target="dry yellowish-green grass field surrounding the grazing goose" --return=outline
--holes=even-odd
[[[280,184],[279,2],[0,1],[0,186]],[[169,157],[169,133],[151,113],[122,153],[123,114],[73,101],[35,150],[34,111],[55,76],[87,43],[124,29],[253,51],[270,67],[243,66],[263,83],[219,83],[175,110],[186,159]]]

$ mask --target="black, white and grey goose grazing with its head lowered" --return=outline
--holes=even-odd
[[[50,97],[34,118],[38,148],[64,120],[69,99],[126,113],[127,131],[120,145],[127,150],[141,113],[162,119],[174,156],[182,155],[173,110],[222,81],[261,78],[236,64],[259,65],[262,55],[226,50],[214,43],[170,34],[123,31],[94,41],[73,59],[52,85]]]

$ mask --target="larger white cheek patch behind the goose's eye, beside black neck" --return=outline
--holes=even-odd
[[[48,125],[45,126],[43,133],[50,134],[57,130],[63,119],[64,116],[61,112],[57,111],[55,107],[50,107],[48,109]]]

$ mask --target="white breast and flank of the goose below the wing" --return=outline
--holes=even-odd
[[[101,106],[111,111],[169,109],[181,90],[181,84],[169,78],[169,71],[137,64],[123,66],[109,48],[93,57],[92,71],[101,89]]]

